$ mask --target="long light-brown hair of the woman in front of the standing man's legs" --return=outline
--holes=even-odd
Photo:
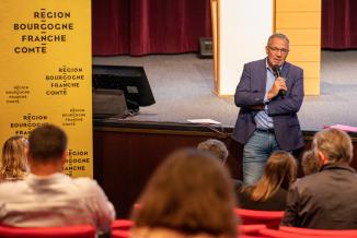
[[[254,187],[251,199],[253,201],[265,201],[269,199],[279,188],[285,190],[297,178],[297,164],[288,152],[274,152],[268,158],[263,177]]]

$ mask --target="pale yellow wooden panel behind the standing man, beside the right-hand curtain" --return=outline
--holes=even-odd
[[[290,39],[288,61],[304,70],[306,95],[320,95],[321,0],[276,0],[275,21]]]

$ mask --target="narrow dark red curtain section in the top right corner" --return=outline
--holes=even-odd
[[[357,1],[322,0],[322,48],[357,48]]]

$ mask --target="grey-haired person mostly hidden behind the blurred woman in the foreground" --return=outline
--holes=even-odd
[[[227,150],[227,146],[223,142],[216,140],[216,139],[209,139],[204,142],[200,142],[197,146],[200,151],[206,151],[216,156],[221,160],[222,164],[226,164],[229,152]],[[231,179],[234,186],[234,190],[238,192],[242,189],[243,182],[238,179]]]

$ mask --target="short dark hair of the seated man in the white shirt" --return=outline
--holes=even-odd
[[[28,153],[35,160],[60,158],[67,148],[67,135],[54,124],[44,124],[30,134]]]

